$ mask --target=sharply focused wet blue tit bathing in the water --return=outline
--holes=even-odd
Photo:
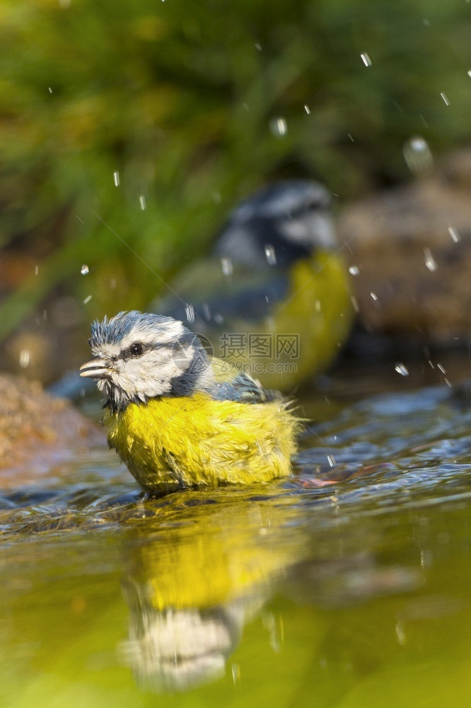
[[[110,447],[148,493],[288,476],[299,419],[287,401],[209,358],[182,322],[120,312],[92,325]]]

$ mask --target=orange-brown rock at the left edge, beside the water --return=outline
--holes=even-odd
[[[0,374],[0,487],[40,482],[60,472],[103,432],[37,382]]]

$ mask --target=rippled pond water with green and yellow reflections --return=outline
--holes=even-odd
[[[99,447],[0,496],[0,705],[468,706],[471,406],[409,368],[307,397],[289,482],[142,501]]]

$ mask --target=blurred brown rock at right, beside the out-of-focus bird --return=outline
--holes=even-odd
[[[471,335],[471,150],[432,176],[347,207],[339,236],[366,329],[447,343]]]

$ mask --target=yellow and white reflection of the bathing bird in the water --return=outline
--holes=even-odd
[[[286,499],[222,492],[191,502],[146,520],[127,546],[129,638],[120,649],[146,690],[223,675],[245,623],[306,553]]]

